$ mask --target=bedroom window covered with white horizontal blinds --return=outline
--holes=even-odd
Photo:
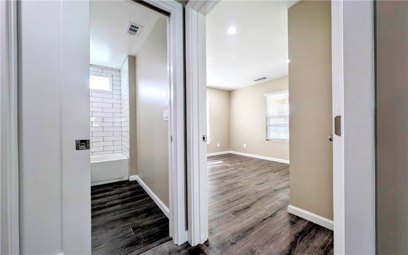
[[[289,141],[289,91],[265,94],[266,140]]]

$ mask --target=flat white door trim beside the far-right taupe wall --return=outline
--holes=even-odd
[[[375,254],[374,6],[373,1],[343,1],[341,7],[345,247],[342,253]]]

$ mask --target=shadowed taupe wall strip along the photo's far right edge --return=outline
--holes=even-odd
[[[377,251],[408,254],[408,3],[376,1]]]

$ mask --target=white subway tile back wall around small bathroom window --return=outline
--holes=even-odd
[[[112,75],[113,83],[112,92],[90,90],[91,155],[121,153],[121,71],[96,65],[90,65],[90,70]]]

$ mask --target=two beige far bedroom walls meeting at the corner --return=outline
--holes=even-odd
[[[207,88],[211,131],[208,153],[232,150],[289,160],[289,142],[265,139],[265,94],[286,89],[288,77],[233,91]]]

